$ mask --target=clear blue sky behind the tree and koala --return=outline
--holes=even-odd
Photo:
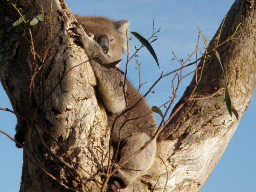
[[[224,15],[234,0],[67,0],[73,13],[81,15],[102,15],[112,19],[129,19],[131,31],[136,31],[145,38],[152,32],[154,16],[155,29],[161,28],[158,40],[152,45],[160,62],[160,70],[147,50],[140,52],[142,63],[142,81],[145,92],[151,83],[160,75],[161,70],[168,72],[179,67],[172,61],[172,51],[180,58],[186,58],[195,49],[198,29],[210,39],[215,34]],[[131,51],[136,40],[131,41]],[[134,62],[129,65],[128,78],[135,86],[138,84]],[[186,69],[189,73],[193,69]],[[181,96],[191,77],[182,82],[178,92]],[[148,96],[150,105],[160,105],[171,95],[171,77],[164,79],[156,88],[155,94]],[[0,107],[11,108],[9,99],[0,86]],[[236,133],[224,152],[202,192],[253,192],[256,189],[256,129],[253,118],[256,114],[256,95],[241,119]],[[16,118],[13,114],[0,111],[0,129],[14,136]],[[4,135],[0,135],[0,191],[17,192],[20,186],[22,168],[22,150],[15,148]]]

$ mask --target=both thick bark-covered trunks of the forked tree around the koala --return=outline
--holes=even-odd
[[[50,12],[50,3],[19,1],[17,7],[22,8],[22,15],[33,7],[33,18],[42,7],[44,12]],[[239,23],[239,29],[256,23],[255,6],[255,0],[236,0],[219,42],[233,34]],[[86,191],[99,191],[99,168],[105,163],[102,153],[108,151],[109,130],[104,108],[93,89],[93,71],[88,62],[83,63],[87,61],[85,52],[69,37],[68,29],[75,21],[72,13],[62,0],[52,0],[51,22],[14,27],[12,23],[20,17],[17,11],[7,1],[0,2],[0,7],[0,80],[14,111],[21,115],[17,115],[17,121],[26,130],[20,191],[81,189],[83,183]],[[201,189],[253,95],[255,34],[256,27],[251,25],[238,35],[238,44],[230,41],[217,49],[239,119],[230,117],[225,105],[218,105],[224,99],[223,91],[209,99],[186,102],[159,136],[157,157],[148,172],[152,177],[140,177],[144,184],[137,184],[136,191]],[[34,51],[48,54],[45,59],[38,58]],[[191,93],[195,78],[176,106]],[[193,97],[209,96],[222,87],[224,77],[212,53]],[[123,191],[133,189],[130,186]]]

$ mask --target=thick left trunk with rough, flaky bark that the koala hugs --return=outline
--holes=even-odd
[[[40,5],[46,13],[49,13],[50,2],[50,0],[26,3],[20,1],[17,7],[22,7],[22,14],[25,14],[28,7],[32,6],[33,18],[39,14]],[[57,163],[58,161],[42,145],[36,128],[46,145],[50,146],[51,153],[57,154],[65,162],[70,162],[56,142],[42,131],[39,126],[42,125],[70,154],[73,162],[76,163],[73,167],[81,172],[82,177],[90,180],[99,173],[97,169],[102,159],[99,149],[106,153],[109,130],[106,126],[104,108],[99,106],[94,93],[93,86],[96,85],[96,79],[93,71],[89,63],[81,64],[87,61],[85,52],[67,36],[68,29],[72,27],[70,23],[75,21],[73,15],[64,2],[53,0],[52,42],[49,38],[49,27],[46,27],[45,23],[32,27],[34,47],[38,55],[44,55],[43,49],[50,45],[48,55],[51,56],[44,62],[41,72],[38,72],[33,80],[32,96],[29,101],[29,84],[31,76],[37,69],[33,64],[31,44],[27,41],[30,40],[28,25],[21,24],[23,28],[13,27],[12,23],[20,16],[7,1],[1,2],[0,7],[2,27],[0,78],[14,111],[29,119],[26,122],[17,116],[23,131],[26,130],[25,148],[35,162],[58,180],[68,186],[77,185],[77,181],[70,179],[71,174],[61,168],[64,166],[63,163]],[[56,47],[58,49],[55,51]],[[42,64],[39,59],[37,63]],[[67,75],[64,76],[65,73]],[[42,79],[44,83],[41,84]],[[99,146],[98,150],[95,149],[96,146]],[[87,172],[82,171],[77,165]],[[98,189],[91,181],[86,182],[86,187],[92,191]],[[23,154],[21,192],[63,191],[63,189],[63,186],[31,163],[26,153]]]

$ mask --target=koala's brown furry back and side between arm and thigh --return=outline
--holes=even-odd
[[[137,103],[143,96],[138,93],[136,88],[131,84],[130,81],[126,80],[127,83],[127,105],[128,108],[132,107]],[[154,117],[154,114],[151,112],[151,108],[146,102],[145,99],[142,99],[131,111],[125,113],[119,119],[117,119],[114,130],[113,130],[113,139],[112,143],[117,144],[119,140],[119,128],[125,122],[125,118],[129,113],[128,121],[121,128],[121,140],[131,136],[135,133],[145,133],[149,137],[152,137],[157,131],[157,122]],[[113,121],[117,115],[111,114],[108,115],[108,126],[111,128]],[[129,120],[133,119],[133,120]]]

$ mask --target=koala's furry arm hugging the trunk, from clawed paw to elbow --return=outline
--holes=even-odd
[[[113,62],[93,40],[93,35],[89,37],[81,26],[78,26],[74,32],[78,35],[76,39],[81,42],[89,59],[99,57],[104,64]],[[121,113],[126,108],[123,91],[124,76],[118,70],[103,67],[94,60],[91,60],[90,64],[98,80],[99,93],[105,108],[111,113]]]

